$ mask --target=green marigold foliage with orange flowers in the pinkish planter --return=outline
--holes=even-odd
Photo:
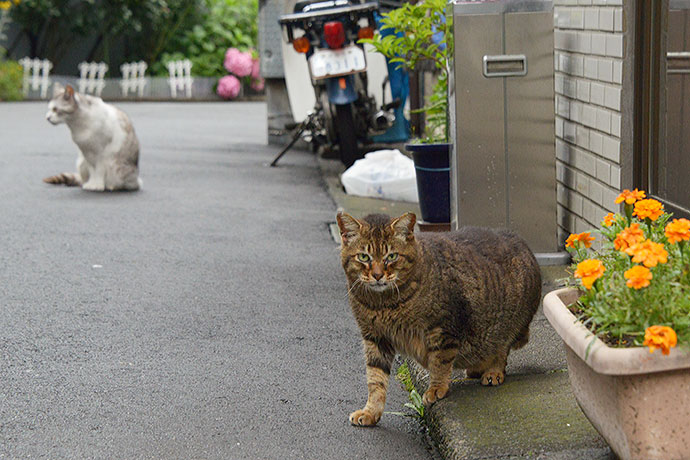
[[[583,289],[575,306],[576,314],[610,345],[640,346],[645,330],[660,325],[671,327],[678,336],[679,345],[687,346],[690,343],[690,244],[688,241],[669,242],[665,229],[671,214],[664,212],[656,220],[639,219],[633,217],[632,208],[633,205],[625,204],[622,214],[610,215],[600,230],[592,232],[599,234],[600,249],[587,249],[578,241],[573,243],[574,247],[567,248],[573,256],[571,269],[576,275],[578,264],[585,260],[599,260],[605,267],[590,289],[582,288],[581,280],[571,279],[572,284]],[[650,263],[646,267],[652,275],[648,286],[631,283],[631,287],[625,276],[634,266],[643,267],[647,260],[635,247],[629,250],[632,255],[620,250],[628,245],[619,235],[634,224],[642,231],[639,240],[663,245],[663,249],[655,246],[653,256],[663,258],[664,251],[667,253],[667,262],[658,261],[655,266]],[[640,258],[633,260],[638,253]],[[639,270],[646,273],[643,268]]]

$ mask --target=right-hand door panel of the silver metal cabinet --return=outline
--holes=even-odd
[[[506,14],[505,43],[530,62],[526,77],[505,79],[508,226],[533,251],[556,251],[553,15]]]

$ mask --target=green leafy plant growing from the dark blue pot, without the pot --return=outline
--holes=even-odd
[[[380,31],[391,29],[395,34],[381,35],[377,31],[370,43],[390,62],[414,69],[422,61],[430,61],[438,70],[429,103],[420,109],[426,113],[426,142],[448,142],[448,76],[453,56],[453,27],[451,17],[445,15],[446,0],[424,0],[383,14]],[[440,33],[440,34],[439,34]],[[440,37],[434,43],[435,34]]]

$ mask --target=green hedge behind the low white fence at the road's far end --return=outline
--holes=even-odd
[[[139,60],[167,75],[165,64],[181,58],[194,75],[222,76],[225,51],[256,48],[258,36],[258,0],[22,0],[10,17],[31,57],[57,63],[87,40],[79,58],[105,61],[110,76]]]

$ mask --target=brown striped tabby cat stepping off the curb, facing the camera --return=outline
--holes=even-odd
[[[415,235],[411,213],[337,220],[369,389],[353,425],[381,418],[396,353],[428,369],[425,404],[446,396],[454,363],[483,385],[503,383],[541,299],[539,266],[520,237],[477,227]]]

